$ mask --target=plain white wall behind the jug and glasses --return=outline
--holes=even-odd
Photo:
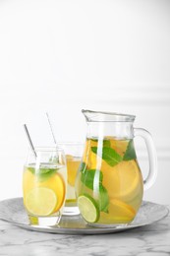
[[[0,200],[22,196],[23,124],[52,144],[48,111],[59,141],[81,141],[89,108],[137,115],[159,164],[144,199],[170,204],[170,1],[0,0],[0,89]]]

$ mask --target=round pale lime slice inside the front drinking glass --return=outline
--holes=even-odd
[[[26,196],[26,208],[31,215],[49,216],[55,212],[57,196],[53,190],[46,187],[33,188]]]

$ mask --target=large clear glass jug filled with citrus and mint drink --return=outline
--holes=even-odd
[[[82,111],[87,135],[76,183],[80,212],[91,225],[130,224],[142,205],[143,188],[149,188],[156,177],[152,138],[146,130],[133,127],[134,115]],[[142,136],[147,148],[145,180],[135,151],[136,136]]]

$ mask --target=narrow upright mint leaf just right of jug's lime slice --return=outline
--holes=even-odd
[[[99,209],[101,212],[108,213],[108,207],[109,207],[109,196],[108,192],[100,185],[99,187]]]

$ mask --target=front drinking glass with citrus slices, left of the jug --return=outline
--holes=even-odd
[[[59,224],[66,198],[67,167],[63,150],[35,148],[24,166],[24,205],[30,224]]]

